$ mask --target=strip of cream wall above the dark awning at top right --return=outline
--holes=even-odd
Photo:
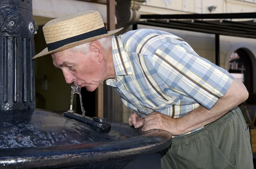
[[[209,6],[217,6],[210,12]],[[253,0],[147,0],[140,8],[141,14],[184,14],[184,13],[239,13],[255,12]]]

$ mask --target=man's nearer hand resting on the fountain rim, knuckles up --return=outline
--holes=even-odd
[[[152,112],[145,117],[142,131],[146,132],[151,129],[164,130],[172,135],[182,135],[177,132],[177,119],[163,115],[159,112]]]

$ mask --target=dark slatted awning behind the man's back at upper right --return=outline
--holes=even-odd
[[[138,24],[209,34],[256,38],[256,13],[141,15]],[[235,21],[234,19],[247,19]]]

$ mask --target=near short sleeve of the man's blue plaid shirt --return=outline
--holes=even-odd
[[[234,79],[226,70],[200,57],[184,41],[161,45],[152,64],[163,83],[207,109],[227,92]]]

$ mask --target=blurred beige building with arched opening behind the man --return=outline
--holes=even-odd
[[[256,12],[255,0],[116,0],[116,28],[124,27],[121,33],[134,29],[159,29],[175,34],[185,40],[201,57],[215,63],[215,34],[191,32],[140,24],[141,14],[214,14]],[[42,27],[53,18],[67,16],[84,10],[97,10],[107,24],[107,0],[33,0],[33,18],[39,27],[35,35],[35,52],[46,48]],[[241,19],[237,19],[238,21]],[[85,21],[86,22],[86,21]],[[254,103],[256,92],[256,39],[219,36],[219,65],[234,77],[244,82],[250,93],[248,104]],[[67,111],[70,103],[70,86],[66,84],[61,69],[52,64],[50,56],[35,60],[36,107],[55,111]],[[113,89],[104,85],[104,94],[82,89],[83,104],[88,116],[103,115],[110,121],[128,122],[131,109],[122,104]],[[103,98],[104,104],[99,102]],[[79,113],[79,100],[74,100],[74,109]],[[101,109],[99,109],[101,107]],[[252,110],[254,112],[254,110]]]

